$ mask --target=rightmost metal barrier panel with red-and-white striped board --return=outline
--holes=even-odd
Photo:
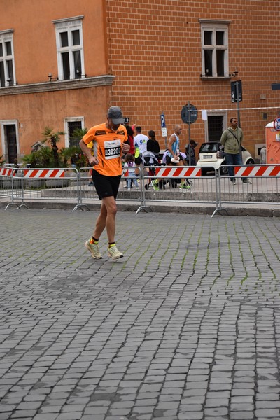
[[[228,167],[228,165],[225,165]],[[245,182],[244,182],[245,181]],[[280,165],[236,165],[235,183],[218,172],[219,208],[226,204],[280,204]]]

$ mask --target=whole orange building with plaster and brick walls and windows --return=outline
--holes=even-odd
[[[73,127],[104,121],[110,105],[155,130],[164,148],[160,114],[168,135],[183,125],[185,144],[181,109],[190,102],[190,136],[218,139],[237,116],[231,83],[241,80],[244,146],[258,158],[279,113],[278,10],[269,0],[2,0],[0,155],[20,159],[45,126],[64,130],[59,146],[69,146]]]

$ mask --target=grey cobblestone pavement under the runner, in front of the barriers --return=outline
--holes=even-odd
[[[280,419],[279,218],[0,216],[0,420]]]

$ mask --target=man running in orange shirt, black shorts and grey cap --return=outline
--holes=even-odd
[[[93,142],[94,156],[87,144]],[[85,247],[92,258],[102,258],[99,252],[99,238],[106,228],[109,241],[108,255],[113,260],[123,257],[115,242],[116,235],[116,198],[120,186],[123,167],[121,153],[127,153],[130,145],[127,141],[127,130],[123,125],[123,113],[118,106],[111,106],[107,111],[106,123],[95,125],[80,140],[80,148],[90,165],[93,166],[92,181],[102,200],[99,216],[92,238],[85,242]]]

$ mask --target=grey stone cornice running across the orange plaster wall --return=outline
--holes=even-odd
[[[104,76],[86,77],[75,80],[53,80],[44,83],[30,83],[28,85],[15,85],[0,87],[0,96],[12,94],[29,94],[41,92],[55,92],[57,90],[87,89],[88,87],[110,86],[115,76],[106,74]]]

